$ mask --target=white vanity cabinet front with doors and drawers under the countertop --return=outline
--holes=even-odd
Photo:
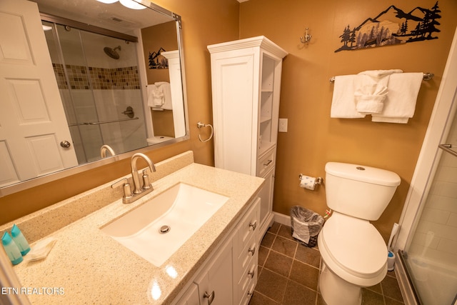
[[[260,202],[260,198],[251,202],[248,211],[172,304],[248,304],[257,283]]]

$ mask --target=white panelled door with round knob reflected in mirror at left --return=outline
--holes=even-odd
[[[0,1],[0,186],[78,165],[38,6]]]

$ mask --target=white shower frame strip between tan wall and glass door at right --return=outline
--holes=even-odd
[[[401,229],[398,233],[394,250],[406,250],[411,244],[413,233],[416,230],[418,219],[431,188],[431,181],[435,176],[438,161],[443,151],[438,145],[445,141],[457,111],[457,29],[453,36],[446,67],[443,72],[440,88],[433,106],[433,112],[424,137],[421,153],[419,154],[416,169],[414,170],[411,185],[408,190],[405,205],[400,218]],[[457,118],[456,118],[457,119]],[[426,173],[426,174],[423,174]],[[401,286],[406,304],[417,304],[416,296],[411,289],[406,270],[403,268],[401,255],[396,256],[396,274]],[[399,270],[401,270],[399,272]]]

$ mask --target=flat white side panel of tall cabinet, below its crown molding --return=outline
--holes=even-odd
[[[215,58],[211,65],[216,167],[255,175],[254,56]]]

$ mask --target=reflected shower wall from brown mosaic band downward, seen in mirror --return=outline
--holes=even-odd
[[[126,119],[121,113],[127,106],[133,107],[135,115],[139,117],[134,121],[84,125],[79,129],[71,126],[80,163],[99,159],[103,144],[109,144],[115,152],[146,146],[146,131],[141,128],[144,126],[144,117],[141,115],[143,104],[137,66],[110,69],[53,64],[53,68],[62,99],[67,104],[65,108],[69,124]],[[64,69],[68,73],[68,81]],[[71,89],[71,94],[68,89]],[[69,101],[74,102],[74,108],[68,104]],[[84,139],[84,145],[81,138]]]

